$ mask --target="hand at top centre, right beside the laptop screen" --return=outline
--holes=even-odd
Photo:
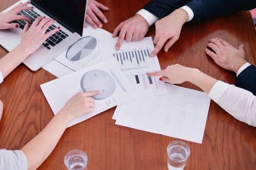
[[[102,23],[99,21],[98,17],[101,18],[104,23],[107,23],[107,18],[100,11],[100,9],[107,11],[108,7],[97,2],[96,0],[88,0],[85,21],[87,21],[93,28],[102,28]],[[85,27],[86,26],[87,24],[85,23]]]

